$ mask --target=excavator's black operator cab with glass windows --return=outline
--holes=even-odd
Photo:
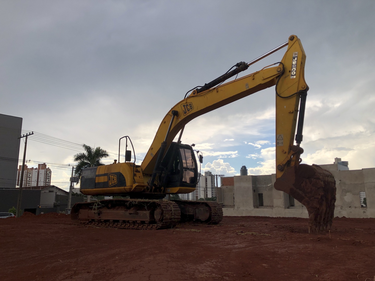
[[[198,168],[190,145],[172,142],[160,164],[163,187],[195,187]]]

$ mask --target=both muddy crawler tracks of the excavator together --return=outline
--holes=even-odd
[[[190,200],[108,199],[77,203],[71,211],[74,224],[121,229],[166,229],[180,221],[217,224],[222,218],[218,203]]]

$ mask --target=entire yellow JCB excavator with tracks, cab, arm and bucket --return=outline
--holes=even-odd
[[[280,62],[222,84],[248,69],[251,64],[286,46],[287,51]],[[216,202],[164,199],[168,194],[195,191],[199,180],[195,157],[197,151],[180,141],[184,126],[202,114],[275,86],[274,187],[306,206],[309,232],[330,229],[336,201],[335,179],[330,172],[317,165],[301,164],[300,158],[303,153],[300,143],[309,89],[304,77],[305,60],[306,54],[300,39],[292,35],[287,42],[261,57],[249,63],[237,63],[219,78],[188,91],[184,99],[163,118],[141,165],[135,164],[134,148],[126,136],[123,137],[126,138],[123,163],[120,163],[119,142],[118,163],[115,160],[113,164],[82,170],[80,191],[83,194],[120,195],[123,198],[77,203],[71,210],[72,221],[125,229],[170,228],[180,221],[219,223],[223,212],[221,205]],[[178,140],[174,142],[178,133]],[[128,146],[132,146],[134,160]],[[199,163],[202,163],[202,155],[196,154]]]

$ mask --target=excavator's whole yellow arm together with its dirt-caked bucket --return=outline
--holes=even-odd
[[[336,183],[333,175],[327,170],[317,165],[300,164],[300,154],[303,153],[300,143],[303,138],[305,103],[309,89],[304,76],[306,54],[297,36],[290,36],[287,43],[288,49],[276,66],[266,66],[260,71],[216,86],[215,83],[219,84],[221,81],[218,78],[210,82],[211,85],[214,84],[213,87],[206,85],[201,89],[195,89],[171,108],[160,123],[141,164],[144,174],[152,174],[148,180],[149,187],[154,184],[156,174],[160,172],[159,165],[166,148],[171,145],[178,132],[182,134],[184,126],[189,121],[228,103],[276,86],[274,187],[290,194],[306,206],[309,213],[309,232],[330,229],[335,210]],[[238,65],[237,69],[240,70],[237,73],[247,69],[244,63]],[[236,74],[235,70],[234,73]]]

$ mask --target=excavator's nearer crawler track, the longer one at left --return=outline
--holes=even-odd
[[[100,200],[77,203],[71,211],[74,224],[121,229],[172,228],[180,217],[178,205],[167,200]]]

